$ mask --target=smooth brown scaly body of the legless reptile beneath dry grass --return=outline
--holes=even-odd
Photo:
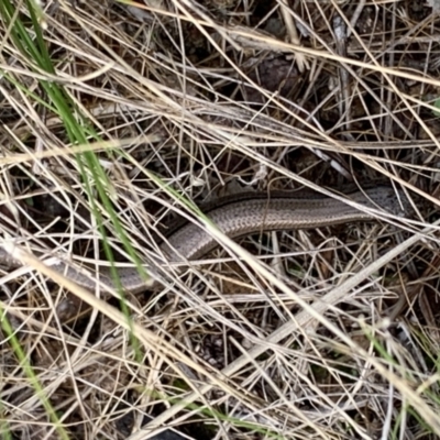
[[[384,210],[391,215],[400,215],[410,210],[406,197],[386,186],[377,186],[363,193],[346,196],[346,200],[362,205],[364,208]],[[404,207],[400,206],[404,204]],[[261,231],[279,231],[314,229],[332,224],[372,220],[374,213],[358,209],[343,201],[328,197],[300,193],[246,193],[233,195],[211,202],[205,215],[231,239]],[[377,216],[377,215],[376,215]],[[183,263],[199,260],[218,246],[218,242],[197,223],[186,223],[175,230],[161,245],[166,260],[170,263]],[[0,248],[0,263],[9,267],[21,263]],[[85,272],[78,271],[65,262],[51,265],[56,272],[66,275],[81,287],[95,290],[97,280]],[[122,287],[128,293],[139,293],[154,285],[154,279],[141,276],[138,268],[118,268]],[[99,272],[100,283],[116,288],[108,267]]]

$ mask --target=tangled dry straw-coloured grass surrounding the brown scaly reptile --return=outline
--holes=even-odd
[[[419,212],[241,246],[220,234],[224,249],[185,273],[164,266],[162,289],[127,298],[131,322],[114,298],[19,255],[25,265],[1,278],[2,438],[438,438],[437,12],[145,3],[47,1],[40,23],[55,73],[0,22],[4,239],[96,270],[101,223],[118,264],[131,250],[147,263],[169,213],[189,212],[164,186],[200,204],[381,179]],[[26,4],[13,4],[12,25],[34,35]],[[87,142],[69,135],[51,84],[96,131],[82,125]],[[63,321],[66,296],[94,311]]]

